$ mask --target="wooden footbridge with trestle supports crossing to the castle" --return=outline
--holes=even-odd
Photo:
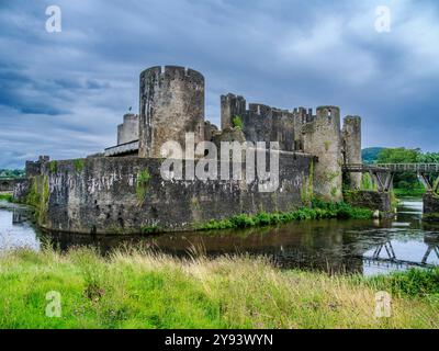
[[[378,191],[387,192],[393,185],[395,173],[416,173],[427,189],[427,192],[439,191],[439,163],[352,163],[344,165],[344,172],[347,173],[369,173],[378,186]],[[431,182],[430,176],[436,180]]]

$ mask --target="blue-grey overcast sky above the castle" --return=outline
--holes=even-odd
[[[219,95],[363,117],[363,147],[439,151],[437,0],[0,0],[0,168],[115,144],[138,75],[200,70],[206,117]],[[48,5],[61,32],[45,29]],[[391,13],[375,29],[376,7]],[[381,23],[381,22],[380,22]]]

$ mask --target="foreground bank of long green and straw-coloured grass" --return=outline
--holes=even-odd
[[[401,278],[280,271],[245,257],[19,250],[0,257],[0,328],[437,328],[434,282],[405,291]],[[394,294],[391,318],[374,317],[383,288]],[[50,291],[60,318],[45,316]]]

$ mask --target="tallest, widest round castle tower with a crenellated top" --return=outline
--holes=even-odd
[[[204,77],[178,66],[151,67],[140,73],[139,157],[160,158],[166,141],[184,151],[185,134],[204,139]]]

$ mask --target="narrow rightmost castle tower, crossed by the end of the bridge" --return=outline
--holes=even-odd
[[[362,163],[361,158],[361,117],[346,116],[341,132],[342,157],[345,165]],[[361,173],[347,174],[348,185],[351,189],[361,189]]]

